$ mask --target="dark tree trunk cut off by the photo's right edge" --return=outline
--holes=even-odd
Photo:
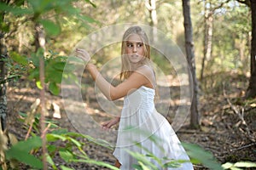
[[[251,0],[252,42],[251,42],[251,77],[246,98],[256,98],[256,1]]]

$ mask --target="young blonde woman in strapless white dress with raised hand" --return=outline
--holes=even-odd
[[[79,58],[89,62],[90,56],[84,49],[78,48],[76,52]],[[123,82],[116,87],[102,77],[95,65],[86,65],[86,69],[96,81],[96,86],[109,100],[125,98],[121,115],[102,124],[103,128],[108,129],[119,122],[117,143],[113,151],[113,156],[117,158],[116,167],[133,169],[133,165],[139,162],[131,155],[132,152],[138,152],[144,156],[148,155],[150,166],[158,169],[173,160],[185,161],[175,169],[193,169],[189,156],[170,123],[154,108],[156,83],[150,64],[150,46],[148,37],[140,26],[131,26],[125,31],[121,54],[120,78]],[[161,159],[161,163],[150,157],[150,154]]]

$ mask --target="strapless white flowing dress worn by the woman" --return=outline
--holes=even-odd
[[[142,86],[127,95],[119,122],[119,132],[113,156],[120,164],[120,169],[134,169],[133,164],[139,164],[128,152],[137,152],[144,156],[152,153],[159,159],[167,157],[169,160],[187,160],[178,168],[161,168],[160,164],[150,156],[146,161],[155,169],[190,170],[193,166],[189,161],[183,146],[177,139],[169,122],[154,107],[154,89]],[[143,161],[145,162],[145,161]],[[144,163],[147,165],[147,163]],[[151,169],[151,168],[149,168]]]

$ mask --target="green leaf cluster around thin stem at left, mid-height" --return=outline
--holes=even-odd
[[[77,81],[74,78],[75,66],[66,65],[67,56],[61,56],[52,51],[49,51],[49,54],[44,56],[44,49],[39,48],[38,52],[32,53],[30,58],[11,52],[10,58],[4,59],[5,65],[9,69],[9,77],[6,77],[6,80],[2,82],[8,82],[28,74],[28,78],[35,80],[38,88],[42,89],[41,82],[39,81],[39,58],[44,58],[44,82],[48,83],[51,94],[58,95],[60,93],[59,85],[62,78]],[[64,69],[66,74],[64,74]]]

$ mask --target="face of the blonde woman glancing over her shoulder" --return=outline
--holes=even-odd
[[[141,37],[137,34],[131,34],[125,42],[125,54],[131,63],[137,64],[144,59],[144,44]]]

